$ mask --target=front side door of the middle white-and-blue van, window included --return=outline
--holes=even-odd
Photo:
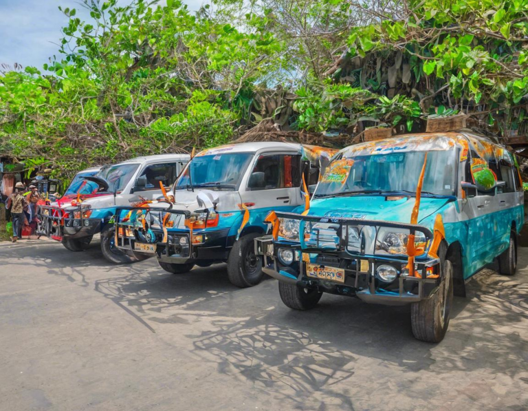
[[[265,153],[256,156],[252,171],[241,191],[248,209],[259,210],[265,218],[269,211],[290,211],[303,203],[300,154]]]

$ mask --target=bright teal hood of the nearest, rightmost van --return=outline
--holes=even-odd
[[[363,220],[383,220],[393,222],[410,222],[415,197],[396,197],[387,200],[386,196],[351,196],[320,198],[310,204],[309,215],[318,217],[360,218]],[[450,202],[449,198],[422,197],[418,222]]]

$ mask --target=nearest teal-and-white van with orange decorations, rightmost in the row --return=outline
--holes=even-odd
[[[466,132],[399,136],[339,151],[308,209],[268,217],[256,254],[289,308],[322,293],[411,304],[415,337],[437,342],[465,280],[495,258],[515,273],[522,208],[505,147]]]

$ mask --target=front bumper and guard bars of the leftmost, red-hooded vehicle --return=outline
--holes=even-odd
[[[83,238],[100,232],[99,219],[69,217],[70,213],[59,207],[41,206],[39,211],[38,235],[45,235],[52,240],[62,241],[69,238]]]

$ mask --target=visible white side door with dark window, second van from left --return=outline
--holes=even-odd
[[[178,169],[181,170],[180,162],[174,160],[145,165],[135,178],[133,197],[155,200],[162,195],[160,183],[169,191],[179,174]]]

